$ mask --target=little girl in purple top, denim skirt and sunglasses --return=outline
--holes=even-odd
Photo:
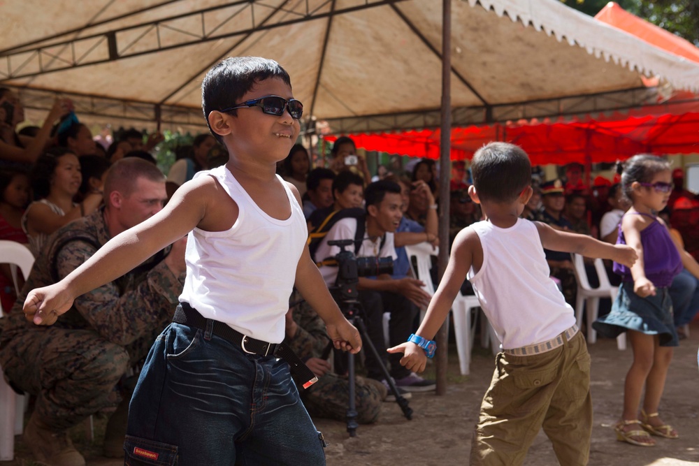
[[[617,439],[653,446],[655,440],[649,433],[669,439],[679,437],[677,430],[658,417],[672,347],[679,344],[672,320],[670,284],[682,271],[683,263],[693,272],[699,270],[699,265],[689,254],[679,252],[668,226],[656,217],[668,205],[672,191],[667,161],[652,155],[632,157],[624,163],[621,189],[632,205],[621,218],[617,245],[633,247],[640,259],[633,267],[615,261],[614,272],[622,277],[619,294],[612,312],[593,323],[593,328],[607,337],[626,332],[633,348],[633,363],[624,384],[624,412],[614,426]]]

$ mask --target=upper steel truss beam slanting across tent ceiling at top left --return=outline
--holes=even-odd
[[[333,9],[326,8],[331,0],[297,1],[291,6],[287,6],[287,0],[230,1],[222,6],[203,8],[156,22],[0,53],[0,81],[138,57],[401,1],[405,0],[361,0],[352,6]],[[266,17],[265,13],[277,9],[287,15],[261,22],[260,18]],[[287,20],[286,17],[291,19]]]

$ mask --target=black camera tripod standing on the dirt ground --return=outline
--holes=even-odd
[[[368,347],[374,355],[374,357],[376,358],[376,361],[379,363],[381,371],[384,374],[384,378],[387,380],[389,387],[391,388],[391,392],[393,392],[396,396],[396,402],[398,403],[398,406],[401,407],[401,410],[403,411],[403,416],[405,416],[405,418],[408,419],[408,421],[410,421],[412,419],[412,409],[408,406],[408,400],[405,400],[401,393],[398,392],[398,388],[396,388],[396,384],[394,383],[394,380],[391,378],[391,374],[389,374],[388,369],[386,368],[384,363],[382,363],[379,353],[376,350],[376,347],[374,346],[373,342],[370,340],[366,333],[366,326],[364,325],[364,321],[361,319],[360,315],[362,310],[361,303],[359,303],[359,301],[356,299],[347,298],[347,290],[331,289],[330,291],[333,294],[333,298],[336,298],[336,302],[340,306],[340,310],[343,312],[343,314],[345,314],[345,317],[347,318],[349,323],[352,323],[352,325],[354,325],[356,329],[359,330],[359,335],[361,336],[363,347]],[[356,289],[350,289],[349,293],[356,295]],[[332,343],[330,344],[330,346],[332,346]],[[354,400],[354,393],[356,391],[356,381],[354,375],[354,354],[350,352],[347,352],[347,379],[349,380],[349,403],[347,405],[347,432],[349,432],[349,437],[355,437],[356,428],[359,427],[359,424],[356,422],[357,412],[356,403]]]

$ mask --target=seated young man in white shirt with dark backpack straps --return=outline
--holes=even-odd
[[[365,233],[361,245],[355,250],[357,258],[396,259],[394,232],[403,217],[401,187],[387,180],[373,182],[364,191],[364,199],[366,217],[363,220],[354,217],[338,220],[318,245],[315,253],[316,262],[334,258],[340,252],[340,247],[330,246],[329,242],[354,239],[359,221],[365,222]],[[382,355],[381,361],[377,361],[372,352],[366,352],[368,377],[383,379],[380,365],[390,362],[390,374],[398,388],[408,392],[433,390],[435,388],[433,381],[423,379],[401,366],[400,355],[387,355],[387,342],[384,341],[382,326],[384,312],[390,312],[389,340],[396,344],[405,341],[412,333],[412,323],[419,312],[419,307],[428,305],[430,296],[422,289],[424,284],[419,280],[409,277],[394,279],[390,275],[392,270],[379,269],[377,276],[366,277],[361,276],[362,268],[359,267],[360,276],[357,286],[359,301],[364,311],[363,320],[366,323],[367,337]],[[322,265],[320,271],[329,287],[336,284],[338,267]]]

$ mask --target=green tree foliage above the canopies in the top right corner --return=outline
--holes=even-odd
[[[571,8],[596,15],[608,0],[561,0]],[[699,0],[617,0],[629,13],[699,46]]]

